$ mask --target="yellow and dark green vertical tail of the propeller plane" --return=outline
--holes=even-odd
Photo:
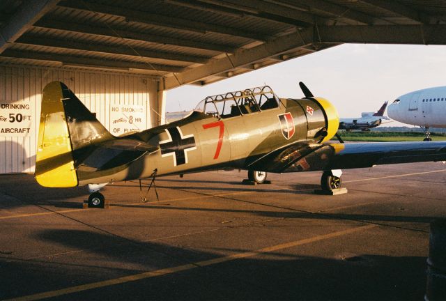
[[[62,82],[43,88],[36,154],[37,182],[45,187],[78,185],[72,151],[113,136]]]

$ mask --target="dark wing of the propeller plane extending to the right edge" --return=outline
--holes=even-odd
[[[284,173],[445,160],[446,141],[293,144],[249,163],[248,168]]]

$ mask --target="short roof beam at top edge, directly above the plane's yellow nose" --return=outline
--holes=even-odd
[[[296,1],[293,0],[281,0],[288,5],[294,5]],[[328,1],[323,0],[299,0],[299,5],[307,6],[309,12],[312,11],[321,11],[324,13],[329,13],[333,15],[335,18],[343,17],[344,19],[348,19],[355,24],[369,24],[372,25],[376,22],[376,18],[371,15],[367,15],[365,13],[361,13],[357,10],[352,10],[350,8],[346,8],[344,6],[339,6],[334,3],[330,3]],[[336,19],[334,19],[336,21]]]

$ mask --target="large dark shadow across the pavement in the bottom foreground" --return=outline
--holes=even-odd
[[[0,298],[16,298],[125,275],[222,257],[155,242],[136,242],[90,231],[45,230],[39,240],[88,249],[69,257],[29,261],[0,258]],[[226,249],[226,254],[246,252]],[[66,259],[63,259],[66,258]],[[79,256],[77,256],[79,258]],[[10,260],[11,258],[9,258]],[[360,254],[318,258],[273,254],[190,268],[61,295],[58,300],[422,300],[426,258]]]

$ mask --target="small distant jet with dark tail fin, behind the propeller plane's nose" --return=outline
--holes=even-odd
[[[390,122],[390,119],[384,116],[385,107],[387,107],[387,102],[384,102],[376,112],[362,112],[360,118],[341,118],[339,130],[369,131],[382,123]]]

